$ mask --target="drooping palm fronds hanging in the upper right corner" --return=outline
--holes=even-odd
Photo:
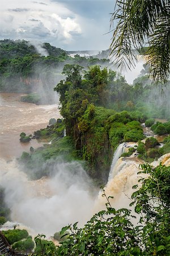
[[[155,82],[166,82],[170,72],[170,2],[168,0],[119,0],[111,17],[111,27],[118,19],[111,43],[111,55],[121,68],[131,68],[137,61],[135,49],[145,52],[150,74]]]

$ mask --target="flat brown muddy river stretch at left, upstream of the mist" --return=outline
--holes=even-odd
[[[29,143],[19,141],[20,133],[29,135],[45,128],[50,118],[60,118],[57,105],[35,105],[21,102],[19,93],[0,93],[0,158],[10,160],[19,157],[32,146],[43,143],[32,139]]]

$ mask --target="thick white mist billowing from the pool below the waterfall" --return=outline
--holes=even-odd
[[[35,181],[28,180],[15,160],[0,164],[0,187],[5,189],[11,220],[34,234],[52,236],[65,225],[79,221],[82,226],[91,217],[96,190],[80,163],[56,159],[49,164],[52,175]]]

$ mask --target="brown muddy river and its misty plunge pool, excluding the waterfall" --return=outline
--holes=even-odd
[[[32,139],[20,143],[20,133],[27,135],[45,128],[50,118],[60,118],[57,105],[35,105],[20,102],[21,94],[0,93],[0,187],[5,190],[5,202],[11,210],[11,221],[5,229],[25,226],[33,236],[53,235],[68,223],[81,225],[91,217],[94,197],[86,172],[78,162],[65,163],[62,157],[46,167],[53,176],[29,180],[18,163],[23,151],[43,143]],[[70,171],[72,170],[72,171]],[[83,202],[83,203],[82,203]],[[1,227],[2,229],[2,227]]]

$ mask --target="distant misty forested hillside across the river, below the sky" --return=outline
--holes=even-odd
[[[109,65],[109,60],[95,57],[71,57],[66,51],[44,43],[41,46],[46,56],[41,56],[29,42],[24,40],[1,40],[0,42],[0,91],[33,93],[23,97],[24,101],[52,104],[55,102],[53,88],[62,79],[66,63],[83,65]]]

